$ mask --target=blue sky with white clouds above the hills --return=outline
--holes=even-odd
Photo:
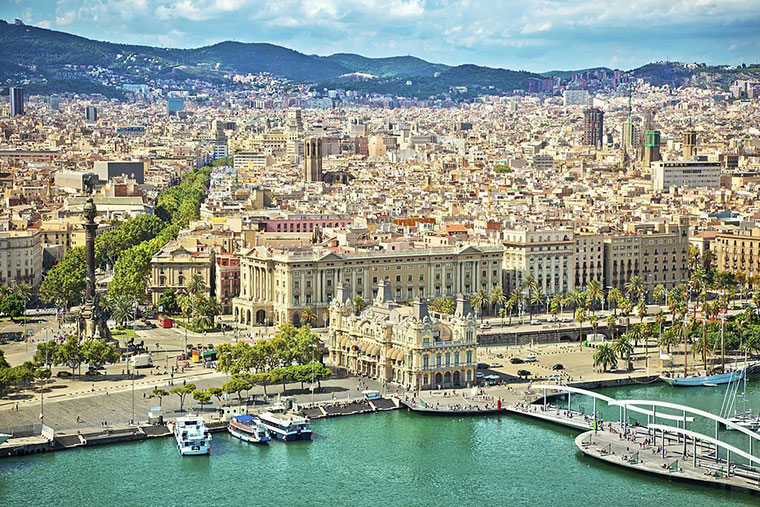
[[[113,42],[271,42],[530,71],[760,60],[760,0],[0,0],[0,18],[16,17]]]

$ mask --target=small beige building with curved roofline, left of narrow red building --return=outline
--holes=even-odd
[[[200,275],[211,294],[216,285],[214,278],[214,252],[212,250],[188,249],[178,241],[172,241],[158,251],[150,261],[151,302],[158,304],[161,294],[169,289],[186,290],[193,275]]]

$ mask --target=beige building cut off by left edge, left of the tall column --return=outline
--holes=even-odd
[[[0,285],[42,281],[42,235],[32,231],[0,232]]]

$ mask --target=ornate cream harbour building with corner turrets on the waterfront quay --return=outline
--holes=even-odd
[[[460,295],[454,315],[438,319],[424,300],[411,307],[391,301],[390,289],[381,282],[374,303],[357,315],[350,293],[339,288],[329,306],[330,361],[409,389],[475,384],[477,321],[467,298]]]

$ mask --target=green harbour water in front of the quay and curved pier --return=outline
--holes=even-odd
[[[720,408],[722,389],[605,390]],[[749,389],[760,405],[760,383]],[[715,404],[717,403],[717,408]],[[583,457],[574,431],[510,416],[395,411],[315,421],[315,440],[253,446],[214,436],[210,457],[170,439],[0,461],[0,506],[757,506],[760,498],[669,482]]]

